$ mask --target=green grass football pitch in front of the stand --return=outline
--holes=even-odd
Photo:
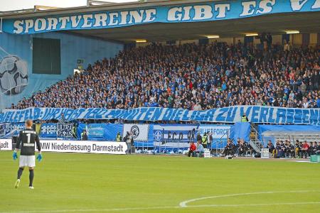
[[[0,152],[0,213],[320,212],[319,163],[43,153],[29,190],[28,170],[14,189],[11,155]]]

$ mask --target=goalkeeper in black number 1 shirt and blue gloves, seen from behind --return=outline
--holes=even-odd
[[[27,120],[26,121],[26,129],[20,131],[19,136],[16,141],[16,148],[14,150],[14,154],[12,157],[14,160],[18,158],[18,150],[21,144],[21,152],[20,152],[20,159],[19,159],[19,169],[18,169],[18,178],[16,180],[16,184],[14,185],[15,188],[19,187],[20,178],[23,173],[23,169],[25,166],[29,168],[29,188],[33,190],[33,178],[34,178],[34,168],[36,166],[36,158],[35,158],[35,143],[38,149],[38,156],[37,159],[40,162],[42,160],[41,155],[41,145],[39,141],[39,136],[32,129],[33,121]]]

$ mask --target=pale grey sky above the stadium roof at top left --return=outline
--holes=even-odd
[[[129,2],[137,0],[100,0],[110,2]],[[34,5],[72,7],[85,6],[87,0],[0,0],[0,11],[31,9]]]

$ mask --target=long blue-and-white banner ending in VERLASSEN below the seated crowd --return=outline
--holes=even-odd
[[[60,119],[62,113],[65,114],[65,119],[68,121],[76,119],[123,119],[127,121],[206,121],[235,123],[241,120],[242,114],[246,114],[252,123],[320,125],[320,109],[262,106],[235,106],[203,111],[158,107],[143,107],[137,109],[4,109],[4,113],[0,114],[0,123],[23,122],[26,121],[26,119]]]

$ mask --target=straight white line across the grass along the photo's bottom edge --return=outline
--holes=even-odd
[[[18,212],[0,212],[0,213],[63,213],[63,212],[119,212],[119,211],[137,211],[152,209],[183,209],[183,208],[201,208],[201,207],[263,207],[272,205],[303,205],[320,204],[320,202],[284,202],[284,203],[264,203],[264,204],[203,204],[193,206],[163,206],[163,207],[136,207],[136,208],[117,208],[117,209],[61,209],[61,210],[35,210]]]

